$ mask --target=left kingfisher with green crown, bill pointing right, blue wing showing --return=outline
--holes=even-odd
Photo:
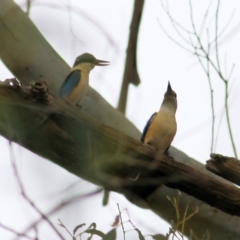
[[[95,66],[108,64],[108,61],[98,60],[90,53],[78,56],[60,88],[59,97],[65,97],[74,104],[79,103],[87,91],[90,71]]]

